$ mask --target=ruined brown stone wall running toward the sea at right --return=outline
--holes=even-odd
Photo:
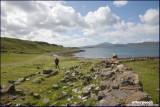
[[[134,101],[152,101],[151,97],[143,92],[136,73],[126,68],[124,64],[111,65],[101,70],[100,94],[98,95],[101,98],[98,99],[96,106],[135,106]]]

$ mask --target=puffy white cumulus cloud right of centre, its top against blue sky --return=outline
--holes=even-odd
[[[112,27],[119,20],[119,16],[113,14],[108,6],[100,7],[94,12],[88,12],[85,16],[89,28],[83,30],[84,35],[97,35],[106,28]]]

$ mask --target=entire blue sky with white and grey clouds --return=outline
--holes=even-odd
[[[159,41],[159,2],[1,1],[1,36],[72,47]]]

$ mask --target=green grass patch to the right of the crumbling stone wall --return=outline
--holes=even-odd
[[[143,91],[152,97],[154,103],[159,104],[159,60],[135,61],[125,64],[139,75]]]

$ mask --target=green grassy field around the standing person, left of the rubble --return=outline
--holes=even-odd
[[[1,54],[1,85],[10,84],[8,80],[15,80],[17,81],[18,78],[28,77],[31,74],[36,74],[36,72],[41,72],[43,69],[55,69],[54,66],[55,57],[50,54],[15,54],[15,53],[3,53]],[[42,102],[44,98],[49,98],[51,100],[50,104],[58,101],[58,106],[66,105],[67,99],[57,99],[57,96],[60,95],[61,91],[66,91],[67,93],[72,94],[75,98],[72,100],[72,103],[79,102],[81,99],[77,98],[76,93],[72,92],[74,87],[70,87],[68,89],[63,89],[63,86],[67,86],[68,84],[59,83],[60,79],[63,78],[63,72],[69,70],[68,68],[74,65],[80,65],[82,62],[91,62],[86,65],[83,65],[83,69],[76,68],[77,71],[82,72],[84,75],[89,75],[92,72],[90,71],[90,66],[92,64],[99,63],[98,60],[86,60],[86,59],[76,59],[71,57],[59,57],[60,60],[60,69],[57,69],[59,73],[55,76],[50,78],[46,78],[44,76],[35,76],[35,79],[43,78],[43,81],[40,84],[33,83],[33,80],[25,81],[19,85],[16,85],[16,89],[25,89],[25,101],[21,101],[21,96],[18,97],[16,103],[21,102],[22,105],[25,106],[24,102],[29,102],[31,105],[36,103],[36,106],[45,106]],[[66,70],[62,70],[65,67]],[[98,68],[95,68],[96,70]],[[96,81],[92,81],[95,83]],[[75,81],[76,85],[79,85],[79,88],[82,89],[84,86],[81,85],[82,80]],[[60,84],[61,88],[59,90],[54,90],[52,88],[53,84]],[[99,83],[97,83],[99,86]],[[34,92],[38,93],[41,97],[40,99],[35,99],[32,96],[28,95],[28,93]],[[80,94],[79,94],[80,95]],[[5,97],[5,96],[3,96]],[[86,105],[94,105],[96,102],[89,99],[85,102]]]

